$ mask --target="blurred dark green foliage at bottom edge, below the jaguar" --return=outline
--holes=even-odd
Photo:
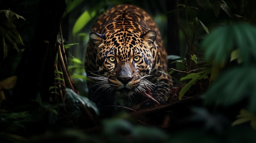
[[[165,143],[168,139],[168,135],[162,130],[132,125],[124,119],[104,120],[102,133],[110,143]]]

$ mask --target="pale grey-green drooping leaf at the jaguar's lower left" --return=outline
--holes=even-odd
[[[82,103],[83,105],[86,105],[88,108],[91,108],[94,110],[96,114],[99,114],[99,110],[94,102],[92,102],[87,97],[83,97],[81,95],[76,94],[72,89],[66,88],[67,97],[72,100],[73,103]]]

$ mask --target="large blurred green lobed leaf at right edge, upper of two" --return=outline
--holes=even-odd
[[[240,49],[244,64],[256,59],[256,28],[247,23],[222,26],[215,29],[202,42],[205,48],[205,58],[213,58],[217,64],[227,61],[231,51]]]

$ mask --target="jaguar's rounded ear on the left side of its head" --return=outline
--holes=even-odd
[[[90,32],[89,37],[90,41],[93,43],[94,48],[96,48],[96,50],[98,50],[103,41],[106,40],[105,35],[96,33],[94,31]]]

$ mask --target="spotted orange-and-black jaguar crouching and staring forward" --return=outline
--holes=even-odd
[[[98,107],[144,101],[160,103],[173,81],[161,34],[146,11],[130,4],[112,7],[99,16],[90,34],[85,70],[94,80],[89,97]],[[122,100],[120,100],[122,99]],[[130,104],[129,104],[130,105]]]

